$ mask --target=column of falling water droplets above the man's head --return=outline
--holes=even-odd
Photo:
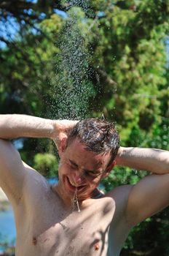
[[[75,7],[80,2],[81,7]],[[55,56],[56,75],[52,82],[52,118],[84,118],[89,114],[89,99],[94,97],[89,79],[89,32],[82,2],[68,2],[71,8],[57,39],[59,53]]]

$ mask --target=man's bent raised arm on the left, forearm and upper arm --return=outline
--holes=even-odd
[[[25,115],[0,115],[0,187],[10,200],[17,202],[23,191],[25,176],[31,167],[26,166],[18,151],[10,143],[12,138],[50,138],[60,146],[74,126],[73,121],[53,121]],[[31,174],[30,174],[31,175]]]

